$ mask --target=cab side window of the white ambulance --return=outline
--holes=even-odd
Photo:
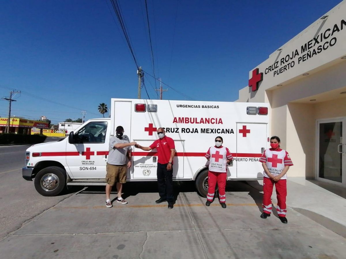
[[[76,133],[76,138],[81,143],[104,143],[106,131],[107,122],[90,122]]]

